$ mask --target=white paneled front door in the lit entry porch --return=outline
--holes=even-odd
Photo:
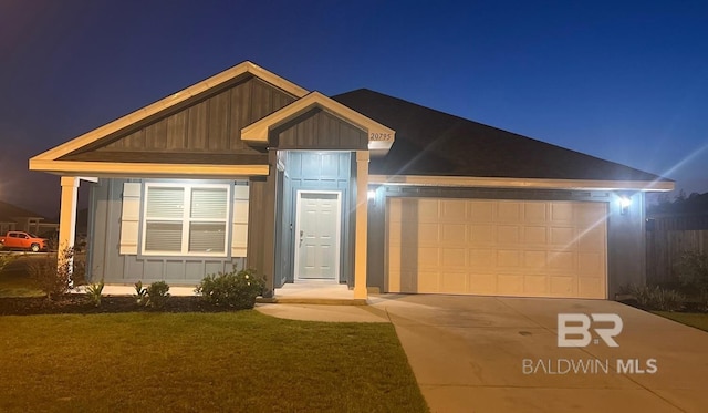
[[[298,192],[295,278],[339,280],[339,192]]]

